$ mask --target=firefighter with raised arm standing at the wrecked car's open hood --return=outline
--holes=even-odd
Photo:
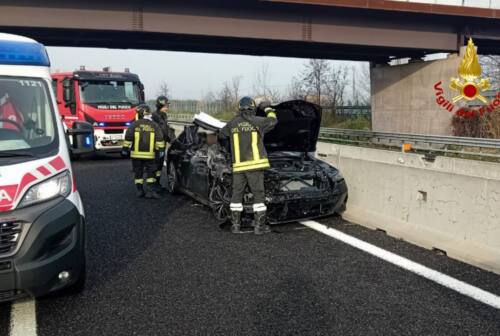
[[[221,138],[229,138],[231,143],[233,183],[231,196],[231,232],[239,233],[243,194],[248,185],[253,194],[254,233],[270,232],[266,224],[264,170],[269,168],[269,160],[264,148],[264,134],[278,122],[274,109],[267,102],[259,104],[267,117],[255,116],[255,101],[243,97],[239,102],[239,113],[220,131]]]

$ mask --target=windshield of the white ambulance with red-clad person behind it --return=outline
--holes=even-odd
[[[0,77],[0,159],[34,157],[58,148],[46,81]]]

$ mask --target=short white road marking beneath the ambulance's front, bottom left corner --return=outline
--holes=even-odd
[[[36,336],[35,300],[22,300],[12,304],[10,336]]]

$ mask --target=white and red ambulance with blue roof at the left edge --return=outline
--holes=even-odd
[[[0,33],[0,301],[78,291],[85,280],[70,153],[93,150],[92,126],[64,129],[49,67],[42,44]]]

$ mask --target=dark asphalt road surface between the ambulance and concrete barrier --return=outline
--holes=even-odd
[[[74,167],[87,286],[36,300],[38,335],[500,335],[500,310],[298,223],[232,235],[188,197],[136,199],[127,160]],[[318,222],[500,295],[498,275],[339,218]],[[0,335],[12,307],[0,306]]]

